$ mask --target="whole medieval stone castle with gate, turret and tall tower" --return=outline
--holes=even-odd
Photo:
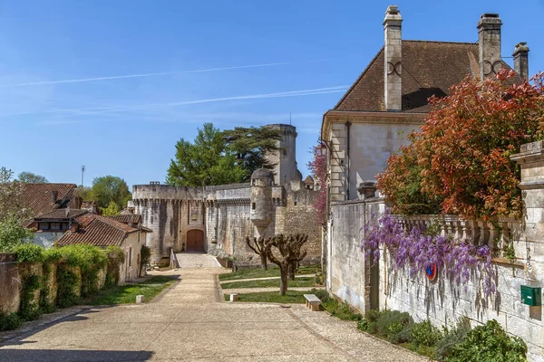
[[[258,169],[247,184],[223,186],[168,186],[159,183],[132,188],[135,214],[150,228],[146,243],[151,262],[174,252],[209,252],[257,263],[257,255],[245,243],[246,236],[275,233],[307,233],[306,261],[321,257],[321,225],[316,221],[316,191],[302,181],[296,168],[296,128],[283,130],[279,149],[267,155],[275,166]]]

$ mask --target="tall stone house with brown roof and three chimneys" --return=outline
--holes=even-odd
[[[431,96],[444,97],[467,76],[493,77],[510,66],[500,58],[500,17],[482,14],[478,43],[403,40],[395,5],[384,18],[384,47],[323,116],[321,138],[329,150],[330,201],[362,198],[361,184],[382,172],[406,136],[423,124]],[[529,48],[516,45],[513,81],[527,79]]]

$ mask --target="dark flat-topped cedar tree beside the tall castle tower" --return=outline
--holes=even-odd
[[[246,170],[244,181],[248,181],[253,171],[274,165],[265,157],[278,150],[277,141],[282,138],[282,130],[271,127],[237,127],[223,132],[227,148],[236,155],[236,162]]]

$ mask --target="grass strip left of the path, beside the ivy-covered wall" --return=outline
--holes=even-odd
[[[155,275],[149,281],[138,284],[118,285],[110,289],[98,292],[90,298],[82,300],[82,304],[88,305],[116,305],[136,302],[137,295],[144,295],[145,301],[156,297],[175,280],[164,275]]]

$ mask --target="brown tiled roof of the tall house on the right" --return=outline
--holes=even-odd
[[[403,41],[403,111],[428,112],[427,99],[443,97],[468,75],[478,76],[478,44]],[[503,66],[511,69],[503,62]],[[523,81],[520,76],[514,82]],[[336,104],[335,110],[380,111],[384,108],[384,48]]]

